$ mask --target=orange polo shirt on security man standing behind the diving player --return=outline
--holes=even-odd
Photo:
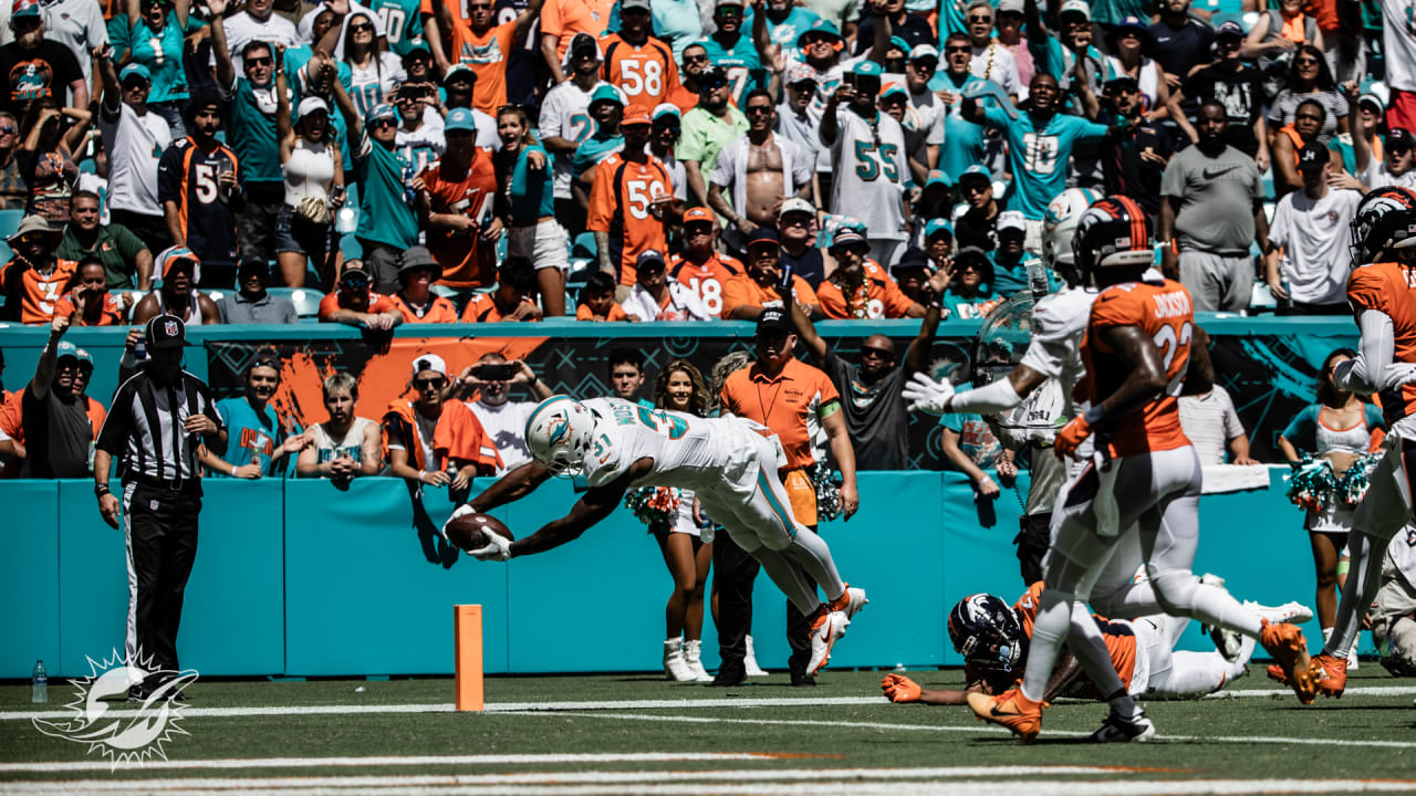
[[[775,377],[766,375],[753,364],[722,382],[724,412],[772,429],[787,453],[789,470],[816,463],[811,438],[821,423],[820,412],[840,401],[841,394],[826,371],[801,360],[787,360],[786,367]]]

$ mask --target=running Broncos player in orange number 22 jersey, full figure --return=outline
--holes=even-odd
[[[1165,612],[1257,637],[1290,674],[1304,701],[1314,694],[1303,633],[1242,606],[1228,592],[1194,576],[1201,467],[1180,426],[1177,395],[1189,364],[1194,312],[1178,282],[1146,276],[1154,255],[1150,221],[1133,200],[1107,197],[1078,222],[1072,242],[1085,280],[1103,288],[1092,305],[1082,357],[1090,401],[1085,415],[1056,438],[1059,456],[1073,456],[1099,432],[1093,462],[1073,477],[1054,514],[1054,542],[1044,562],[1048,589],[1034,626],[1029,664],[1020,688],[988,697],[970,694],[980,718],[1024,739],[1042,728],[1046,680],[1063,639],[1112,704],[1093,741],[1146,741],[1155,734],[1144,711],[1121,687],[1086,603],[1116,540],[1138,524],[1148,551],[1147,582],[1117,599],[1123,612]],[[1293,677],[1297,673],[1297,677]]]

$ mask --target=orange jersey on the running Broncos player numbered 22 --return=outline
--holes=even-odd
[[[1180,426],[1180,388],[1189,365],[1189,339],[1195,329],[1189,290],[1180,282],[1126,282],[1102,290],[1092,305],[1082,343],[1086,384],[1092,405],[1100,404],[1126,381],[1131,367],[1100,337],[1117,326],[1137,326],[1160,348],[1168,385],[1160,398],[1143,409],[1119,418],[1110,432],[1112,456],[1133,456],[1148,450],[1172,450],[1189,445]]]

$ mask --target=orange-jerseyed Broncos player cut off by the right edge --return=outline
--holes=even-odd
[[[1341,697],[1347,687],[1347,653],[1382,584],[1386,544],[1412,520],[1416,486],[1412,472],[1416,467],[1416,191],[1389,186],[1366,194],[1352,220],[1352,261],[1347,299],[1357,313],[1362,339],[1357,358],[1338,364],[1332,381],[1341,390],[1382,397],[1386,455],[1372,470],[1366,496],[1352,516],[1351,565],[1332,636],[1323,654],[1313,659],[1323,671],[1317,688],[1330,697]]]

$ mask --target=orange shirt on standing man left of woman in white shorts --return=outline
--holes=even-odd
[[[428,186],[433,212],[466,215],[474,221],[484,217],[484,205],[497,193],[497,174],[487,147],[477,149],[466,174],[457,174],[445,161],[435,160],[421,177]],[[496,246],[481,246],[479,239],[476,227],[466,232],[447,227],[428,228],[428,251],[443,268],[439,285],[486,288],[497,280]]]

